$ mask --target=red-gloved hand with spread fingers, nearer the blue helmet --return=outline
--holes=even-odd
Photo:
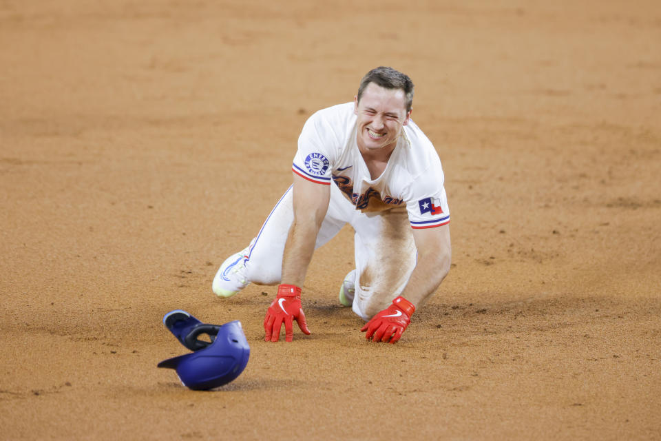
[[[280,285],[277,287],[277,296],[264,317],[264,331],[266,332],[264,341],[277,342],[280,338],[280,327],[284,322],[284,340],[291,342],[294,338],[294,320],[303,334],[310,335],[301,307],[301,289],[296,285]]]

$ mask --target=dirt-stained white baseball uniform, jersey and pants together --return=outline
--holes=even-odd
[[[331,187],[316,247],[328,242],[346,223],[355,229],[353,310],[369,320],[402,294],[408,283],[416,261],[412,229],[445,225],[450,222],[450,211],[439,156],[413,121],[402,127],[397,147],[376,179],[371,178],[358,150],[356,121],[353,102],[313,114],[298,139],[292,170],[308,181]],[[284,244],[292,222],[290,187],[251,241],[248,280],[280,283]]]

